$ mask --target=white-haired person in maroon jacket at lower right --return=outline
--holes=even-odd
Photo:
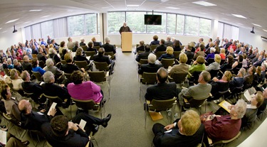
[[[212,114],[207,116],[204,121],[206,134],[213,142],[229,140],[239,134],[241,118],[246,113],[246,102],[239,99],[230,109],[229,115]]]

